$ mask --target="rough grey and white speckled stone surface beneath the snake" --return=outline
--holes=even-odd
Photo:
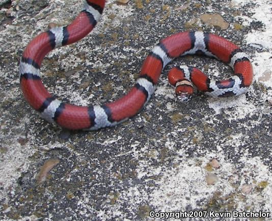
[[[42,80],[59,99],[87,105],[121,97],[160,39],[189,30],[239,45],[252,60],[254,82],[239,97],[197,92],[191,102],[178,103],[167,81],[174,65],[197,66],[216,79],[232,74],[214,59],[180,58],[165,68],[140,114],[113,128],[70,132],[45,122],[25,102],[18,64],[33,37],[50,22],[70,23],[81,6],[21,0],[0,10],[0,219],[154,220],[151,210],[237,210],[270,212],[258,220],[271,220],[269,1],[108,1],[91,34],[44,59]],[[215,13],[226,29],[200,18]],[[38,181],[50,159],[58,163]]]

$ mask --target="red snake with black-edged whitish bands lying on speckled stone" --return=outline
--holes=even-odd
[[[50,123],[70,130],[97,130],[115,126],[135,116],[150,100],[165,66],[187,54],[204,54],[228,64],[234,74],[212,80],[199,69],[174,67],[168,78],[179,100],[186,101],[193,88],[213,97],[237,96],[248,90],[253,79],[249,57],[237,45],[211,33],[180,32],[162,39],[143,62],[134,86],[121,98],[101,104],[71,105],[51,95],[44,87],[40,67],[53,49],[83,39],[101,18],[104,0],[86,0],[83,9],[67,26],[56,26],[33,38],[25,47],[19,64],[20,87],[25,100]]]

